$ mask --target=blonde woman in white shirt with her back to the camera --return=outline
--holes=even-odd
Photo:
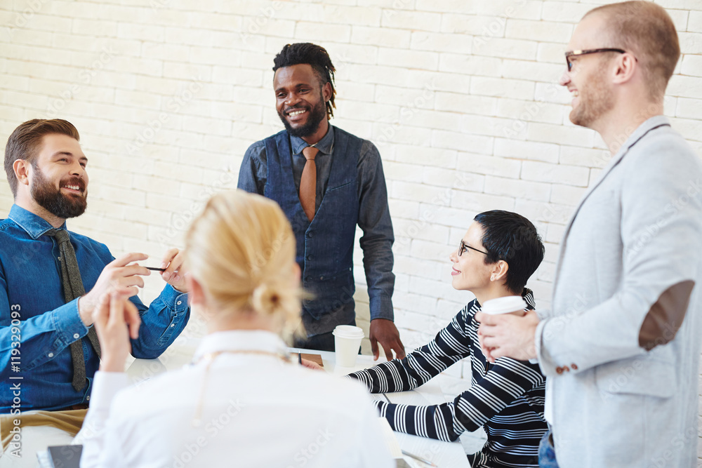
[[[193,363],[127,387],[138,314],[105,297],[81,467],[391,467],[361,386],[291,363],[300,321],[295,238],[277,203],[214,196],[186,238],[190,302],[208,334]]]

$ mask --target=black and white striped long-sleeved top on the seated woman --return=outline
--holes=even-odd
[[[522,292],[528,309],[534,295]],[[538,443],[548,429],[543,419],[544,382],[538,364],[500,358],[488,363],[477,337],[473,300],[428,345],[406,356],[350,374],[372,393],[415,389],[449,366],[470,356],[471,387],[451,403],[409,406],[376,401],[392,429],[455,441],[464,431],[484,427],[487,442],[470,457],[474,467],[538,467]]]

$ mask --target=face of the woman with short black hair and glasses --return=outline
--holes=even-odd
[[[483,229],[478,222],[473,221],[468,232],[463,236],[466,245],[486,251],[482,245]],[[485,263],[485,254],[472,248],[466,248],[458,255],[458,248],[453,250],[449,258],[453,263],[451,271],[451,285],[458,290],[469,290],[476,296],[488,289],[490,276],[494,273],[495,264]]]

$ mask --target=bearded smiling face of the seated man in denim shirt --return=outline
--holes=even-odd
[[[34,202],[58,218],[82,215],[88,204],[87,163],[74,138],[58,133],[44,135],[29,177]]]

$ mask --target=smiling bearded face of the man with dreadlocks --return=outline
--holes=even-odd
[[[329,128],[326,101],[331,85],[322,86],[312,66],[301,63],[277,69],[273,89],[278,116],[288,133],[312,143],[321,140]]]

